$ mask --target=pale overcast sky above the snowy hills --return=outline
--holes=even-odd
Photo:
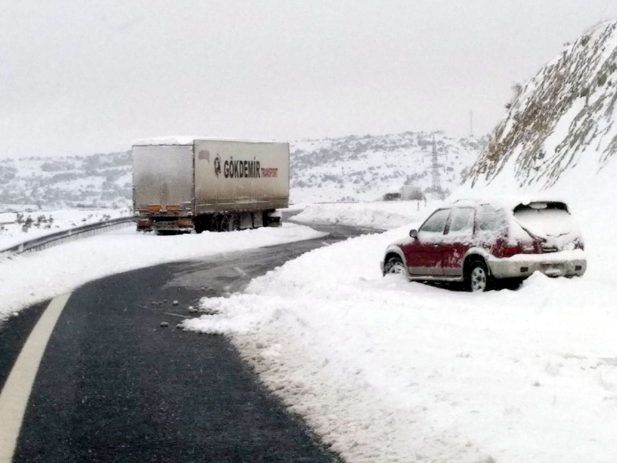
[[[615,0],[0,0],[0,158],[157,135],[487,133]]]

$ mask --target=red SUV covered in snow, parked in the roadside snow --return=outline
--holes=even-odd
[[[581,233],[563,201],[463,199],[440,207],[390,244],[381,269],[411,280],[463,282],[470,291],[515,287],[540,271],[582,276]]]

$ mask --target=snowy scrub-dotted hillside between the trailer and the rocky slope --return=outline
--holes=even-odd
[[[473,164],[484,138],[452,138],[442,131],[381,136],[347,136],[292,143],[291,201],[376,201],[404,183],[431,187],[433,136],[441,183],[452,191]]]

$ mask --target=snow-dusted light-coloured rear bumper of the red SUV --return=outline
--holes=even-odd
[[[587,259],[581,249],[550,254],[517,254],[488,261],[495,278],[526,278],[534,272],[549,277],[581,277],[587,270]]]

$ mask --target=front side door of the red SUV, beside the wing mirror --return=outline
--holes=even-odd
[[[409,243],[402,246],[411,276],[444,274],[441,267],[441,241],[444,238],[445,223],[449,215],[450,209],[438,209],[433,212],[418,229],[418,237],[412,238]]]

